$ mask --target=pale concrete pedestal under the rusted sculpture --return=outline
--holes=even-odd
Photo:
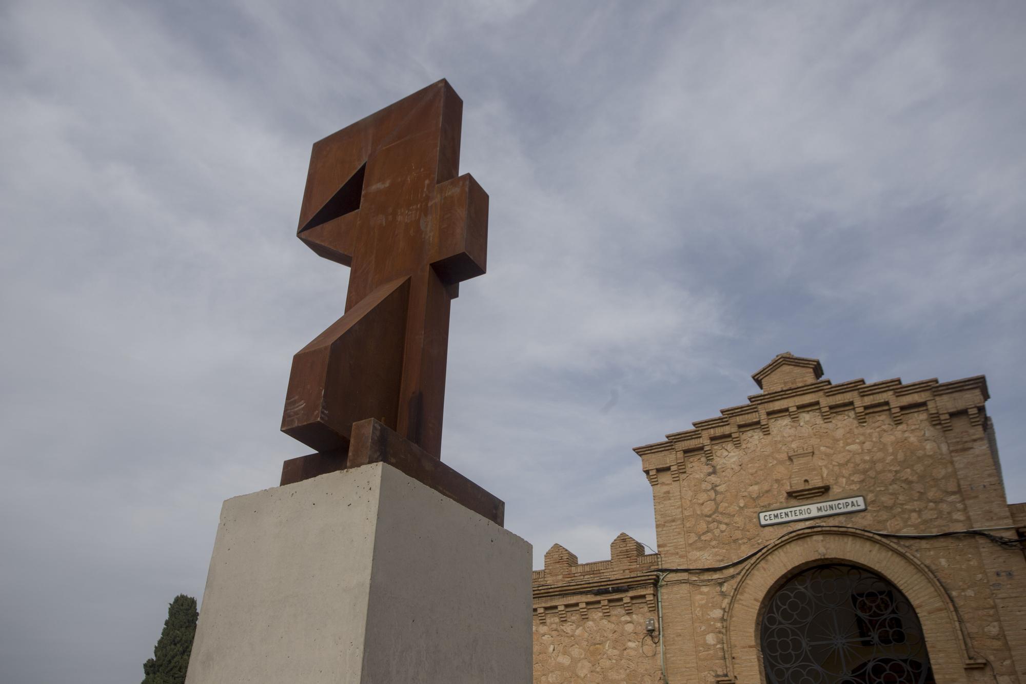
[[[386,463],[229,499],[187,684],[528,684],[530,563]]]

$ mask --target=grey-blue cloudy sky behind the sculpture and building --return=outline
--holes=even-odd
[[[313,141],[439,78],[490,195],[443,458],[507,527],[655,542],[631,447],[756,391],[986,374],[1026,499],[1026,4],[0,3],[0,681],[140,681],[221,502],[307,453],[347,269]]]

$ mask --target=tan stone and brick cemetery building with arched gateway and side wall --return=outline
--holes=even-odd
[[[776,356],[637,447],[658,554],[534,573],[538,684],[1026,684],[1026,504],[983,376],[838,384]]]

